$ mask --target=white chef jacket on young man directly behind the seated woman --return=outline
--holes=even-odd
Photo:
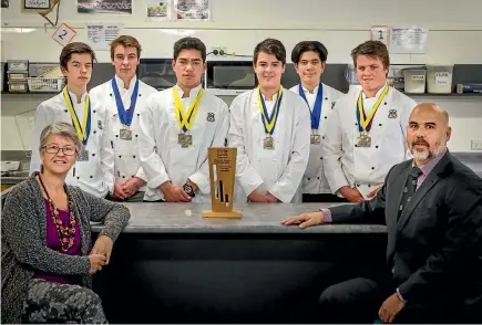
[[[86,93],[82,96],[81,103],[76,103],[75,94],[69,93],[79,120],[82,120]],[[40,170],[39,146],[43,128],[62,122],[72,125],[72,117],[63,93],[42,102],[37,107],[30,174]],[[68,185],[79,186],[82,190],[99,198],[104,198],[114,190],[114,151],[109,136],[110,128],[110,120],[102,104],[91,101],[91,133],[85,146],[89,160],[76,161],[65,179]]]

